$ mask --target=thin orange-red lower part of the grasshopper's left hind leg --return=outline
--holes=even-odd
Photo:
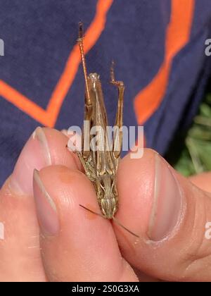
[[[83,29],[83,23],[79,22],[79,32],[78,32],[78,39],[77,43],[79,45],[79,50],[82,58],[82,66],[84,70],[84,79],[85,79],[85,85],[86,85],[86,92],[87,92],[87,104],[91,105],[91,99],[89,94],[89,87],[88,87],[88,80],[87,80],[87,66],[85,61],[85,55],[84,55],[84,29]]]

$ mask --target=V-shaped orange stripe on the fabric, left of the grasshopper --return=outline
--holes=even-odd
[[[98,38],[101,36],[106,24],[106,14],[112,4],[113,0],[98,0],[96,4],[96,15],[94,16],[94,20],[89,26],[84,38],[84,51],[86,54],[94,46],[94,44],[96,44]],[[49,99],[49,104],[46,110],[42,109],[40,106],[2,80],[0,80],[0,96],[10,101],[18,107],[18,109],[27,113],[39,123],[53,127],[58,118],[60,107],[62,106],[68,90],[70,90],[72,82],[75,79],[79,63],[79,49],[77,45],[75,45],[70,52],[65,69],[60,76],[55,89],[53,90],[53,94]]]

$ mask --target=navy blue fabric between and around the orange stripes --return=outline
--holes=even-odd
[[[0,80],[46,109],[49,98],[77,39],[77,24],[88,27],[96,0],[0,0]],[[108,84],[110,62],[126,85],[124,125],[137,125],[134,97],[158,73],[164,58],[165,32],[170,22],[170,0],[115,0],[106,27],[87,54],[89,72],[101,75],[110,124],[114,123],[117,92]],[[210,76],[211,58],[205,56],[210,32],[211,2],[196,0],[190,42],[174,58],[167,92],[145,123],[148,147],[164,154],[174,132],[187,126],[196,113]],[[12,172],[23,144],[39,122],[0,97],[0,185]],[[79,67],[60,109],[56,128],[82,125],[84,79]]]

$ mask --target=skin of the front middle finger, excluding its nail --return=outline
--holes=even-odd
[[[100,211],[87,177],[64,166],[43,168],[39,177],[56,204],[60,224],[53,235],[41,226],[41,254],[49,280],[136,281],[134,271],[122,259],[110,221],[79,206]]]

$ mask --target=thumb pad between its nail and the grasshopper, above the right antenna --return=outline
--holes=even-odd
[[[117,218],[141,237],[146,237],[153,203],[155,155],[151,149],[144,149],[141,159],[132,159],[128,154],[120,161],[117,172]]]

